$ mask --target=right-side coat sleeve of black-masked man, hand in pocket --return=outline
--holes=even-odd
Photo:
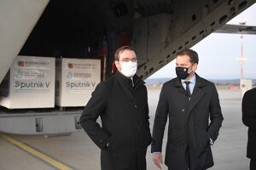
[[[210,103],[210,126],[208,128],[209,137],[215,141],[218,138],[218,131],[224,120],[222,111],[219,105],[218,92],[214,85],[212,85],[212,97]]]

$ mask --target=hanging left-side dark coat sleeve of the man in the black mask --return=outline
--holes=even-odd
[[[166,98],[165,87],[160,92],[160,99],[154,117],[153,142],[151,144],[151,152],[161,152],[163,137],[169,112],[168,101]]]

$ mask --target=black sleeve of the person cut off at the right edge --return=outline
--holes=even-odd
[[[256,130],[256,101],[253,99],[252,91],[247,91],[241,104],[242,122],[247,127]]]

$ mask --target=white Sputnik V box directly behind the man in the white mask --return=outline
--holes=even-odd
[[[101,82],[100,59],[56,59],[55,105],[84,106]]]

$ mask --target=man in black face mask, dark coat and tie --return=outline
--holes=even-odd
[[[154,164],[162,164],[162,140],[169,117],[165,164],[169,170],[205,170],[213,166],[210,144],[218,137],[223,116],[212,82],[195,74],[198,55],[184,49],[177,53],[177,78],[160,92],[152,142]],[[209,123],[209,118],[211,122]]]

